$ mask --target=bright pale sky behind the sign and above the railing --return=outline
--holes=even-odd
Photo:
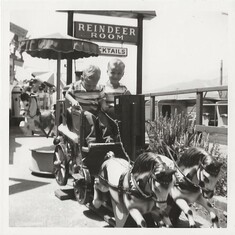
[[[76,1],[84,3],[84,6],[80,5],[79,8],[74,4],[75,1],[68,1],[66,4],[60,4],[61,1],[49,1],[54,4],[45,4],[45,1],[41,1],[42,4],[38,4],[39,7],[33,7],[36,5],[29,4],[29,2],[37,3],[38,1],[20,1],[22,2],[20,5],[14,5],[14,1],[10,2],[12,4],[9,4],[7,7],[9,21],[27,29],[27,36],[29,37],[40,37],[54,32],[66,34],[67,14],[56,12],[56,10],[82,9],[86,7],[82,0]],[[110,1],[101,1],[103,4],[107,2]],[[131,2],[133,1],[126,1],[125,6],[131,6]],[[223,4],[223,1],[218,1],[218,4],[215,4],[217,1],[190,0],[135,2],[137,8],[142,7],[146,3],[144,4],[144,9],[148,6],[149,10],[155,10],[157,14],[152,20],[144,20],[144,93],[159,90],[179,82],[190,82],[195,79],[218,78],[218,84],[215,85],[219,85],[221,61],[223,61],[223,75],[225,77],[228,76],[229,13],[231,8],[227,4]],[[84,14],[75,14],[74,21],[130,26],[136,26],[137,24],[135,19]],[[130,44],[96,43],[99,45],[128,48],[128,57],[121,58],[126,64],[122,83],[127,85],[132,93],[135,93],[137,47]],[[23,69],[56,71],[55,61],[49,62],[48,60],[33,59],[26,53],[23,55],[25,60]],[[108,79],[106,68],[109,59],[110,57],[105,56],[79,59],[74,62],[76,64],[75,69],[82,69],[88,63],[95,63],[101,68],[102,75],[100,82],[104,83]],[[64,67],[62,67],[62,73],[66,74]],[[19,72],[19,74],[22,73]],[[19,76],[21,77],[21,75]]]

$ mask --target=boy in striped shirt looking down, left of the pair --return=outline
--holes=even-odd
[[[90,127],[87,130],[87,145],[96,142],[95,123],[97,118],[103,141],[113,142],[108,120],[104,114],[107,110],[107,104],[104,99],[105,94],[103,88],[98,85],[100,75],[99,67],[89,65],[83,70],[81,80],[72,83],[65,94],[65,98],[71,102],[72,106],[85,111],[84,115]]]

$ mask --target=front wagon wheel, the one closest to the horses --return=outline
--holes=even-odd
[[[91,195],[91,175],[88,169],[81,168],[79,170],[79,179],[75,179],[73,183],[74,195],[80,204],[90,202]]]

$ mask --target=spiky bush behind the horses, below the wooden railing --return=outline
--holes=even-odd
[[[215,195],[227,196],[227,157],[222,156],[220,146],[209,142],[209,134],[195,131],[195,118],[191,115],[174,114],[170,118],[159,115],[154,121],[146,122],[149,137],[148,150],[177,160],[189,147],[201,147],[223,162],[221,178]]]

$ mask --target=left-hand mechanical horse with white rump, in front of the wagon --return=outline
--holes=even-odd
[[[147,227],[143,217],[147,213],[155,225],[160,220],[171,227],[166,208],[174,173],[173,162],[162,155],[145,152],[132,165],[109,152],[95,178],[93,205],[99,208],[109,192],[116,213],[129,213],[138,227]]]

